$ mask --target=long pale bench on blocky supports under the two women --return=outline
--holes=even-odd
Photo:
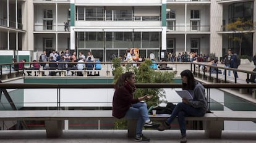
[[[151,120],[166,120],[169,115],[150,115]],[[113,120],[111,110],[15,110],[0,111],[0,120],[45,121],[46,136],[60,137],[64,120]],[[224,121],[255,121],[254,111],[213,111],[202,117],[186,117],[186,120],[203,121],[205,135],[220,138]],[[136,121],[128,120],[128,136],[135,135]]]

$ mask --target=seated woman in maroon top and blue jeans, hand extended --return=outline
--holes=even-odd
[[[119,76],[114,89],[112,115],[119,119],[137,119],[135,141],[149,142],[150,139],[142,134],[143,126],[150,126],[151,128],[158,128],[159,126],[148,117],[147,104],[143,101],[151,99],[152,95],[134,98],[135,75],[131,71]]]

